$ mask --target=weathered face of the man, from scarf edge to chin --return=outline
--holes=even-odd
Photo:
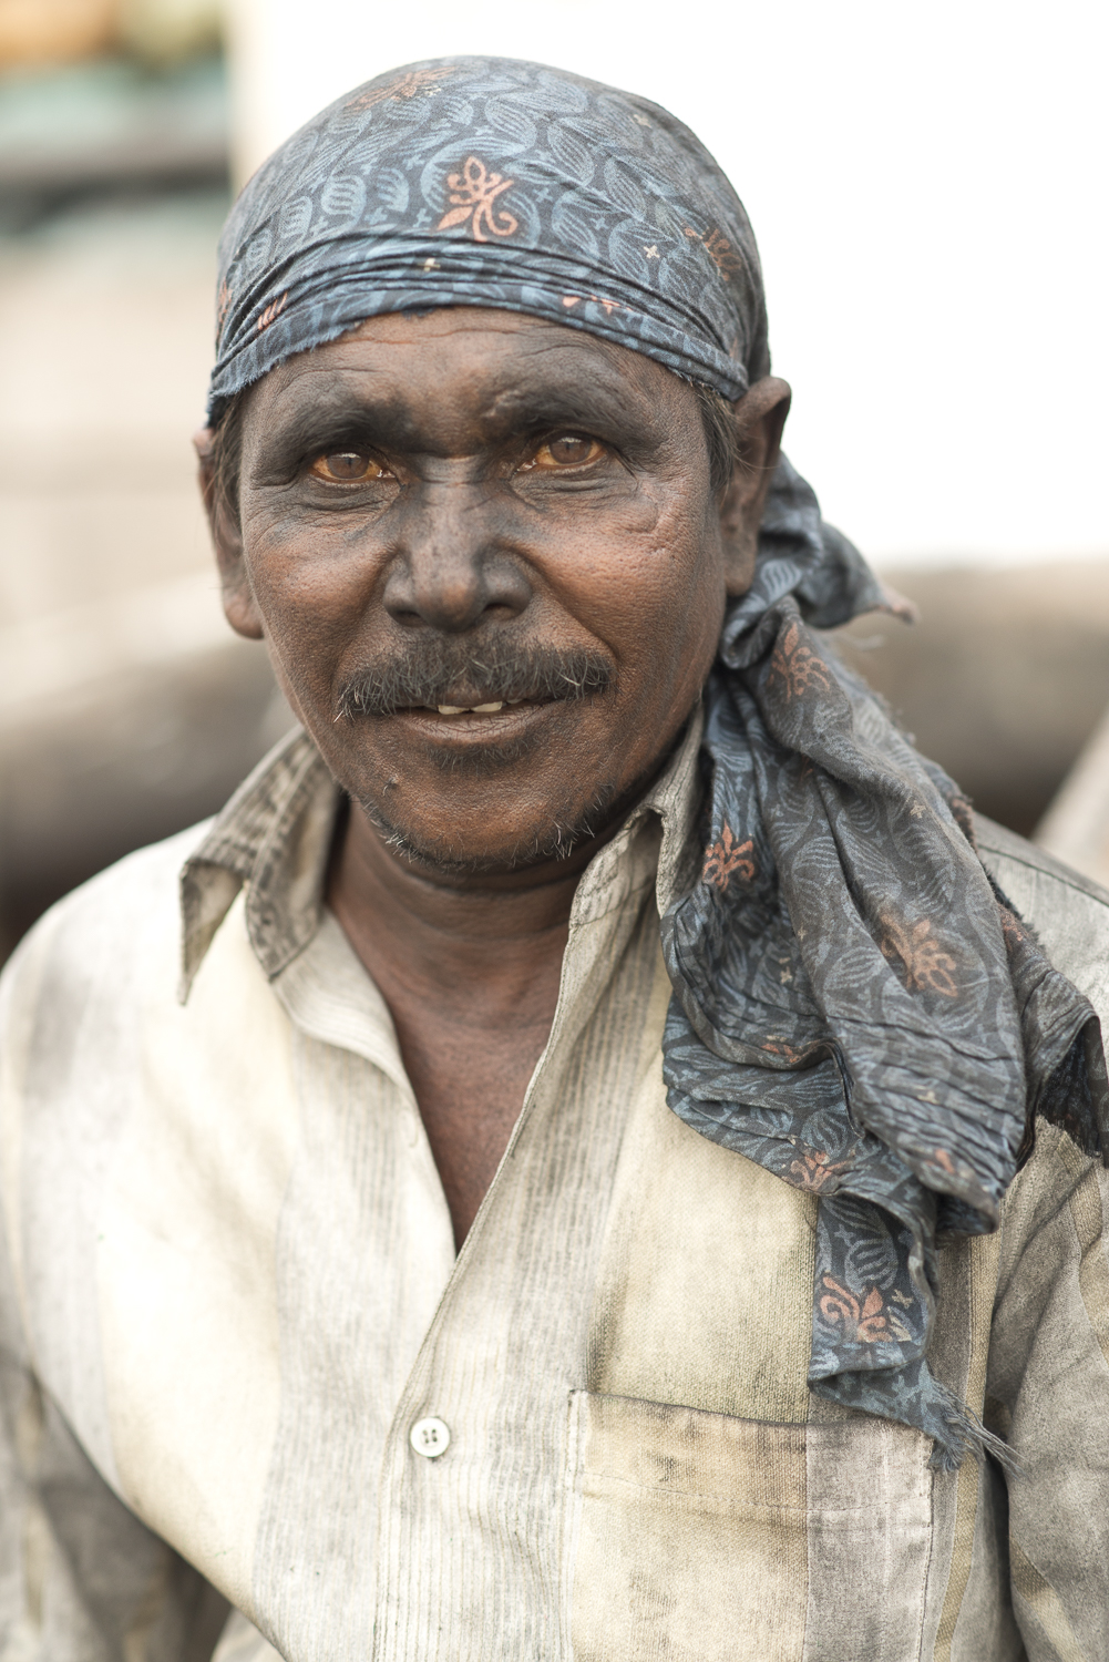
[[[693,391],[640,354],[510,312],[377,317],[253,391],[228,615],[394,846],[509,871],[665,760],[763,490],[722,502]]]

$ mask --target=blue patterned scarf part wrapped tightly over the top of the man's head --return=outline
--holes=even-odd
[[[740,397],[768,367],[758,253],[665,110],[534,63],[379,76],[258,171],[221,241],[211,414],[366,317],[545,317]]]

